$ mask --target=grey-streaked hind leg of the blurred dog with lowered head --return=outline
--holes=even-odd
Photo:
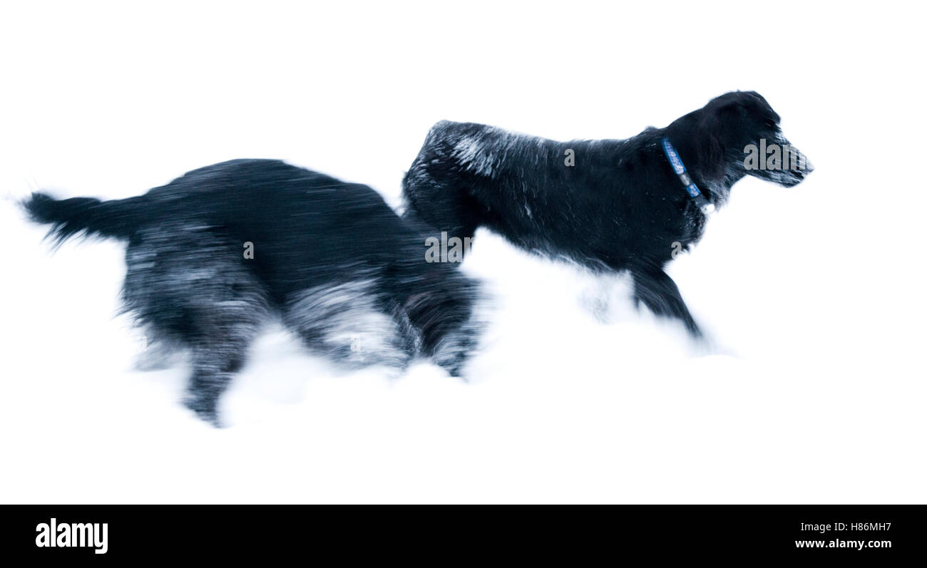
[[[203,227],[148,230],[130,244],[125,309],[156,340],[190,352],[184,405],[219,425],[217,405],[269,315],[239,246]]]

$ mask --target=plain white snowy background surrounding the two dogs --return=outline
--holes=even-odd
[[[390,4],[3,8],[0,500],[927,502],[920,7]],[[622,138],[736,89],[817,170],[738,183],[671,265],[711,349],[480,233],[469,384],[339,374],[276,332],[223,430],[178,404],[184,367],[132,370],[123,246],[52,256],[13,203],[283,158],[398,205],[437,120]]]

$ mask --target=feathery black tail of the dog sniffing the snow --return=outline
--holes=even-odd
[[[100,201],[93,197],[55,199],[33,193],[22,201],[32,221],[50,224],[48,236],[60,244],[75,234],[128,239],[142,224],[142,197]]]

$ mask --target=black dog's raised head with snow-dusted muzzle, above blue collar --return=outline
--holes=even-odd
[[[780,118],[766,99],[753,91],[736,91],[712,99],[699,111],[700,125],[725,170],[792,187],[814,170],[805,154],[782,134]]]

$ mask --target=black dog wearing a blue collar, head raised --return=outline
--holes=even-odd
[[[779,121],[766,99],[742,92],[627,140],[555,142],[441,121],[403,180],[405,216],[457,237],[485,226],[532,252],[629,271],[639,303],[699,336],[664,265],[701,238],[705,206],[724,203],[744,175],[791,186],[810,172]],[[778,162],[748,163],[748,145],[779,145]]]

